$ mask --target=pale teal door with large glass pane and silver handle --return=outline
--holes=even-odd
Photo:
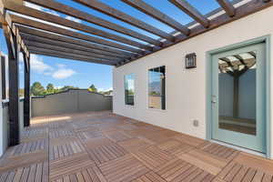
[[[212,56],[212,138],[266,153],[266,45]]]

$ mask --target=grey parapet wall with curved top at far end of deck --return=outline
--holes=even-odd
[[[112,96],[70,89],[65,92],[31,98],[31,116],[112,110]]]

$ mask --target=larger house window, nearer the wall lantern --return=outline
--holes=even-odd
[[[165,97],[165,82],[166,82],[166,68],[160,66],[149,69],[149,83],[148,83],[148,107],[157,109],[166,109]]]

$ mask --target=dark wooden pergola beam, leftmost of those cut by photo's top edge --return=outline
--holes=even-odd
[[[139,40],[145,41],[145,42],[150,43],[152,45],[157,45],[157,46],[162,45],[162,43],[160,41],[158,41],[154,38],[151,38],[147,35],[140,34],[136,31],[128,29],[122,25],[114,24],[112,22],[106,21],[105,19],[102,19],[102,18],[97,17],[95,15],[87,14],[86,12],[77,10],[76,8],[68,6],[68,5],[58,3],[54,0],[46,0],[46,1],[45,0],[26,0],[26,1],[33,3],[35,5],[41,5],[45,8],[49,8],[49,9],[55,10],[57,12],[66,14],[66,15],[71,15],[73,17],[76,17],[78,19],[84,20],[84,21],[92,23],[92,24],[106,27],[108,29],[114,30],[114,31],[124,34],[124,35],[129,35],[129,36],[135,37]]]

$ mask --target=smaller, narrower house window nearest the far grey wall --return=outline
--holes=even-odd
[[[135,75],[125,76],[125,102],[126,105],[135,105]]]

